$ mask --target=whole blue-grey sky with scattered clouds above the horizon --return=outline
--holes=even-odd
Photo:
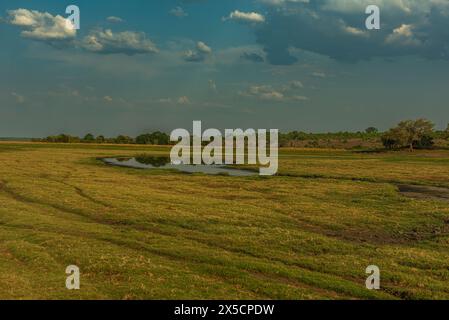
[[[449,122],[449,0],[2,0],[0,43],[3,137]]]

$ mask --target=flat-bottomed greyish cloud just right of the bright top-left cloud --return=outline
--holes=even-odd
[[[158,52],[156,45],[143,32],[114,33],[110,29],[91,31],[83,39],[81,47],[87,51],[101,54],[135,55]]]

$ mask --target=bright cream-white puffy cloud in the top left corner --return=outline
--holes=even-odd
[[[21,35],[52,44],[75,38],[76,29],[66,18],[48,12],[16,9],[8,11],[8,23],[20,27]]]

